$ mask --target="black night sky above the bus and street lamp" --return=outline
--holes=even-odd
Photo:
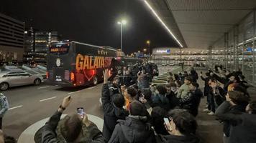
[[[141,0],[1,0],[0,12],[63,39],[114,48],[120,47],[117,21],[125,18],[125,54],[147,47],[147,39],[151,47],[177,46]]]

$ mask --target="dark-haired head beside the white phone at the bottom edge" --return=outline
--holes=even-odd
[[[172,134],[178,132],[183,135],[194,134],[197,129],[197,122],[192,114],[183,109],[173,109],[168,113]]]

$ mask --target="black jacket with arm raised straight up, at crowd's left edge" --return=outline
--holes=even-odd
[[[111,102],[108,84],[103,84],[101,101],[104,111],[103,136],[107,142],[111,138],[111,134],[117,123],[116,121],[118,119],[125,119],[125,117],[129,115],[129,112],[125,109],[114,106],[114,103]]]

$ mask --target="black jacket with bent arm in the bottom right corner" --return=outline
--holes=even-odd
[[[229,113],[229,102],[223,102],[215,115],[219,119],[229,121],[230,129],[229,142],[231,143],[255,143],[256,141],[256,114],[233,114]]]

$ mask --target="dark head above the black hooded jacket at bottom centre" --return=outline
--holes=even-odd
[[[146,117],[147,109],[142,103],[134,100],[129,106],[129,114],[132,116]]]

